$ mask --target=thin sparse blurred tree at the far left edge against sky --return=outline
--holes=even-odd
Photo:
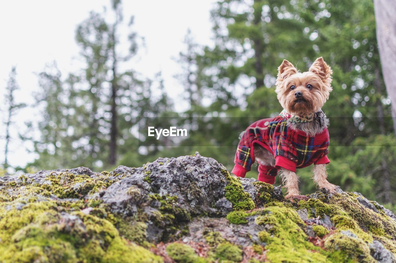
[[[6,125],[6,136],[5,136],[6,145],[4,148],[3,167],[6,170],[8,167],[10,167],[10,164],[8,163],[8,154],[10,151],[10,143],[11,140],[13,139],[11,137],[11,127],[14,124],[13,117],[15,117],[15,114],[19,109],[26,107],[26,104],[17,103],[15,101],[15,91],[19,89],[19,86],[16,81],[16,75],[17,75],[17,70],[16,67],[14,66],[11,68],[11,72],[6,87],[6,95],[4,97],[4,104],[6,105],[7,112],[6,112],[6,120],[4,121],[4,125]]]

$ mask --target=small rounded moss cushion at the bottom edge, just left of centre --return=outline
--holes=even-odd
[[[178,263],[207,263],[208,261],[195,254],[195,251],[183,243],[172,243],[166,247],[166,253]]]

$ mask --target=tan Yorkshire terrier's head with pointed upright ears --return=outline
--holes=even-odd
[[[320,57],[307,72],[299,72],[286,59],[278,68],[276,94],[282,107],[290,114],[317,112],[329,98],[333,71]]]

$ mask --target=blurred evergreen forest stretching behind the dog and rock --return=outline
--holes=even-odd
[[[393,209],[396,144],[373,1],[223,0],[211,19],[213,44],[202,46],[187,32],[175,58],[181,67],[175,78],[185,87],[180,101],[189,104],[175,112],[179,101],[168,98],[161,73],[147,79],[130,63],[143,42],[133,17],[128,36],[119,33],[126,24],[121,2],[91,12],[76,29],[84,68],[62,76],[53,63],[38,75],[35,98],[44,118],[34,140],[38,158],[27,167],[110,170],[199,151],[230,170],[240,132],[282,110],[274,83],[283,59],[306,71],[322,56],[334,71],[323,108],[331,123],[329,181]],[[149,124],[187,128],[189,136],[156,140],[147,136]],[[314,191],[310,168],[299,174],[301,191]]]

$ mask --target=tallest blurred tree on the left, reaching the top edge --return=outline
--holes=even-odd
[[[120,99],[118,91],[121,87],[118,85],[119,78],[123,74],[118,74],[120,61],[128,61],[136,52],[137,44],[135,42],[135,33],[129,35],[130,53],[126,56],[120,56],[117,53],[119,44],[117,29],[123,21],[121,1],[112,1],[112,11],[114,11],[114,22],[108,23],[104,15],[91,12],[89,19],[82,22],[77,29],[76,40],[82,47],[82,55],[87,64],[85,75],[89,89],[82,91],[86,93],[92,103],[92,112],[89,116],[90,131],[97,133],[102,127],[109,133],[109,158],[110,165],[116,164],[117,159],[117,139],[118,139],[118,112],[117,101]],[[131,18],[131,25],[133,18]],[[131,74],[129,74],[131,76]],[[110,79],[108,80],[110,76]],[[103,106],[106,109],[101,114],[99,108]],[[107,109],[108,108],[108,109]],[[107,114],[108,113],[108,114]],[[103,124],[100,124],[102,122]],[[104,125],[105,124],[105,125]],[[96,129],[96,132],[95,132]],[[109,130],[109,131],[107,131]],[[89,140],[91,145],[91,155],[98,157],[99,149],[97,144],[98,134],[92,134]],[[96,138],[95,138],[96,137]]]

